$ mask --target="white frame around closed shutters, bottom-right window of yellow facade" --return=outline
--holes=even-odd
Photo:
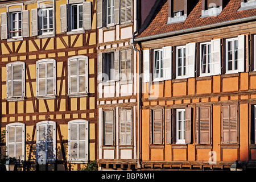
[[[79,125],[85,125],[85,141],[79,138]],[[77,125],[77,140],[72,140],[71,138],[71,125]],[[71,142],[77,141],[77,158],[71,159]],[[86,158],[80,158],[79,156],[79,142],[85,142],[85,155]],[[76,119],[68,122],[68,162],[71,163],[87,163],[89,160],[89,122],[82,119]]]

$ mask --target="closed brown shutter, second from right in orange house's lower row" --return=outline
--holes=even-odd
[[[210,107],[200,107],[200,144],[210,144]]]

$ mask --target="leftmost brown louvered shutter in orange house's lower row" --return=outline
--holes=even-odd
[[[163,121],[162,121],[162,109],[152,110],[152,131],[153,131],[153,144],[163,143]]]

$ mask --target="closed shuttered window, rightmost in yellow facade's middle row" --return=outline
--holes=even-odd
[[[68,59],[68,94],[88,94],[88,57],[75,56]]]

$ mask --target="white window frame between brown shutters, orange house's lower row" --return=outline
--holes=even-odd
[[[179,112],[181,112],[181,119],[179,119]],[[179,128],[179,121],[182,122],[181,129]],[[181,139],[179,138],[179,131],[181,132]],[[185,109],[176,109],[176,144],[185,144]]]

